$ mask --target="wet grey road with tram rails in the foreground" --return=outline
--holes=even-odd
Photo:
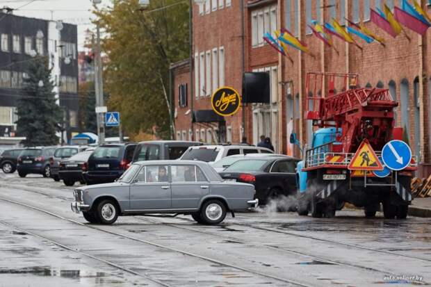
[[[120,217],[100,226],[70,211],[72,189],[0,173],[0,286],[431,284],[426,218],[263,210],[211,227],[190,216]],[[396,278],[403,275],[418,277]]]

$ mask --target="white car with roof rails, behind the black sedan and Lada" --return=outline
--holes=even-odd
[[[202,145],[189,147],[180,159],[214,163],[220,161],[221,158],[236,154],[273,154],[273,151],[254,145]]]

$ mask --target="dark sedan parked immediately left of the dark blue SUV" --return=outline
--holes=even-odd
[[[65,186],[73,186],[76,181],[86,183],[83,172],[88,169],[88,158],[95,149],[90,147],[59,163],[58,178],[63,180]]]

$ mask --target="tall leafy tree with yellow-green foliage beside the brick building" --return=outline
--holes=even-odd
[[[155,127],[158,138],[168,138],[169,65],[188,58],[188,1],[150,1],[147,12],[139,9],[137,0],[123,0],[95,12],[106,35],[108,106],[121,113],[127,133]]]

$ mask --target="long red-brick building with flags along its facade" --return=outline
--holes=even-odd
[[[359,85],[389,88],[391,95],[398,101],[396,108],[396,126],[405,127],[409,135],[412,152],[419,158],[420,173],[426,172],[430,163],[430,117],[431,109],[431,56],[430,30],[422,37],[404,28],[405,32],[392,38],[370,21],[369,8],[382,8],[384,1],[379,0],[244,0],[243,15],[241,1],[207,0],[202,6],[193,6],[193,110],[190,106],[190,89],[188,108],[178,107],[178,89],[175,97],[177,118],[175,125],[178,131],[192,129],[190,116],[198,109],[209,109],[209,95],[214,87],[221,84],[213,80],[213,65],[200,69],[212,60],[214,48],[224,48],[225,85],[231,85],[241,91],[242,54],[245,54],[245,71],[264,71],[270,73],[270,104],[248,104],[245,107],[245,135],[256,144],[259,136],[270,136],[277,151],[284,154],[300,156],[298,149],[288,142],[292,131],[298,133],[301,142],[307,142],[312,134],[309,121],[303,119],[305,106],[305,77],[307,72],[339,72],[359,74]],[[223,3],[223,8],[220,4]],[[386,1],[389,8],[400,6],[401,1]],[[431,13],[428,1],[422,0],[425,12]],[[243,17],[241,17],[243,16]],[[345,25],[345,18],[353,22],[364,20],[366,28],[383,37],[384,45],[378,42],[367,44],[355,38],[361,48],[333,38],[334,48],[325,47],[322,41],[314,36],[307,24],[311,19],[322,23],[330,22],[332,17]],[[245,47],[241,46],[241,19],[245,24]],[[227,28],[229,27],[229,28]],[[262,40],[265,32],[275,28],[287,28],[304,41],[313,56],[295,49],[288,49],[288,56],[277,53]],[[209,56],[207,57],[209,53]],[[212,63],[212,62],[211,62]],[[220,67],[220,66],[219,66]],[[188,69],[188,68],[187,68]],[[181,74],[181,73],[180,73]],[[175,75],[175,87],[179,84],[177,76],[184,76],[184,83],[190,85],[189,71]],[[209,75],[209,76],[208,76]],[[202,88],[208,87],[210,89]],[[201,91],[199,95],[196,91]],[[184,111],[185,110],[185,111]],[[188,110],[189,114],[184,115]],[[225,141],[238,142],[241,138],[241,110],[234,117],[226,120]],[[199,126],[199,128],[197,128]],[[201,139],[202,124],[193,124],[193,139]],[[199,131],[197,131],[199,129]],[[220,132],[220,129],[218,130]],[[197,137],[199,134],[199,138]],[[182,135],[182,133],[181,133]],[[220,140],[220,139],[219,139]],[[204,141],[207,141],[206,138]]]

